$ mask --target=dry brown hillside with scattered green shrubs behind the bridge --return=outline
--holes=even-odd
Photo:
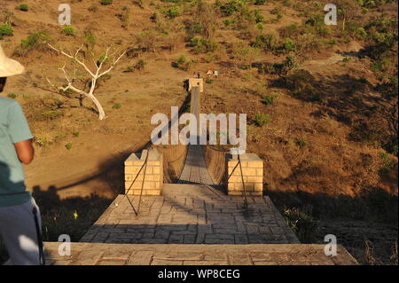
[[[184,80],[212,69],[220,76],[207,80],[202,111],[247,114],[248,152],[262,157],[267,193],[287,208],[287,219],[317,219],[326,230],[309,228],[313,236],[336,233],[361,261],[390,262],[397,238],[397,1],[337,0],[337,26],[325,26],[331,1],[324,0],[69,2],[70,27],[58,24],[58,1],[0,4],[0,43],[27,67],[4,92],[24,107],[35,136],[27,185],[43,207],[47,198],[74,198],[65,211],[44,208],[49,219],[72,221],[70,209],[80,209],[78,239],[121,193],[121,161],[148,146],[151,116],[186,106]],[[72,75],[74,62],[46,43],[70,52],[82,45],[79,57],[92,69],[107,46],[127,50],[95,92],[105,121],[88,98],[48,83],[65,85],[59,67]],[[87,90],[86,75],[78,66],[75,83]],[[82,203],[98,211],[87,213]],[[56,220],[47,224],[57,227],[49,238],[61,229]],[[378,260],[370,253],[364,259],[365,240]]]

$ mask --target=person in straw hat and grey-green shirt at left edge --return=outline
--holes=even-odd
[[[0,45],[0,92],[7,77],[23,72]],[[43,263],[40,212],[26,190],[22,168],[34,158],[32,138],[20,104],[0,97],[0,238],[10,255],[8,264],[14,265]]]

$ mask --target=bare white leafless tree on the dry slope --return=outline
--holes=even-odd
[[[59,70],[61,70],[64,73],[65,79],[66,79],[66,87],[58,87],[59,90],[62,91],[66,91],[66,90],[74,90],[76,93],[79,93],[87,98],[90,98],[90,100],[94,103],[94,105],[97,107],[98,110],[98,119],[99,120],[104,120],[106,119],[106,113],[104,111],[103,106],[101,106],[101,104],[98,101],[98,98],[95,97],[94,95],[94,90],[96,89],[96,85],[97,85],[97,81],[100,77],[102,77],[103,75],[106,75],[107,73],[111,72],[111,70],[113,69],[113,67],[119,62],[119,60],[121,60],[121,58],[123,57],[123,55],[125,55],[126,51],[123,51],[121,53],[121,55],[117,56],[116,52],[113,53],[113,55],[108,55],[109,51],[111,49],[111,47],[108,47],[106,49],[106,54],[104,56],[102,56],[102,58],[98,61],[98,62],[94,62],[94,66],[96,66],[96,70],[93,72],[90,70],[89,67],[87,67],[87,65],[84,63],[84,61],[82,61],[81,59],[78,58],[78,54],[79,52],[82,50],[82,46],[74,53],[74,55],[72,54],[68,54],[65,51],[62,51],[62,49],[57,49],[54,46],[52,46],[50,43],[47,43],[47,45],[54,51],[59,52],[60,54],[66,56],[69,59],[73,59],[75,62],[77,62],[79,65],[81,65],[87,73],[89,73],[90,75],[90,79],[91,79],[91,83],[90,83],[90,89],[89,91],[84,91],[84,90],[79,90],[78,88],[76,88],[73,83],[75,81],[75,74],[76,74],[76,67],[74,68],[74,76],[72,78],[69,78],[69,76],[66,74],[66,65],[64,65],[64,67],[60,67]],[[101,71],[101,69],[104,67],[104,63],[106,62],[107,59],[109,58],[113,58],[112,59],[112,63],[110,65],[110,67],[108,67],[105,71]],[[47,78],[47,82],[51,84],[51,86],[54,87],[54,85],[50,82],[50,80]]]

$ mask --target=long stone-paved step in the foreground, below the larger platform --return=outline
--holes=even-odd
[[[47,264],[56,265],[335,265],[357,264],[345,248],[326,256],[323,245],[132,245],[44,243]]]

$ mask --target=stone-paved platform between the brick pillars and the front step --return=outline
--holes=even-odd
[[[119,195],[81,242],[293,244],[299,240],[267,196],[227,196],[207,185],[165,184],[161,196]]]

